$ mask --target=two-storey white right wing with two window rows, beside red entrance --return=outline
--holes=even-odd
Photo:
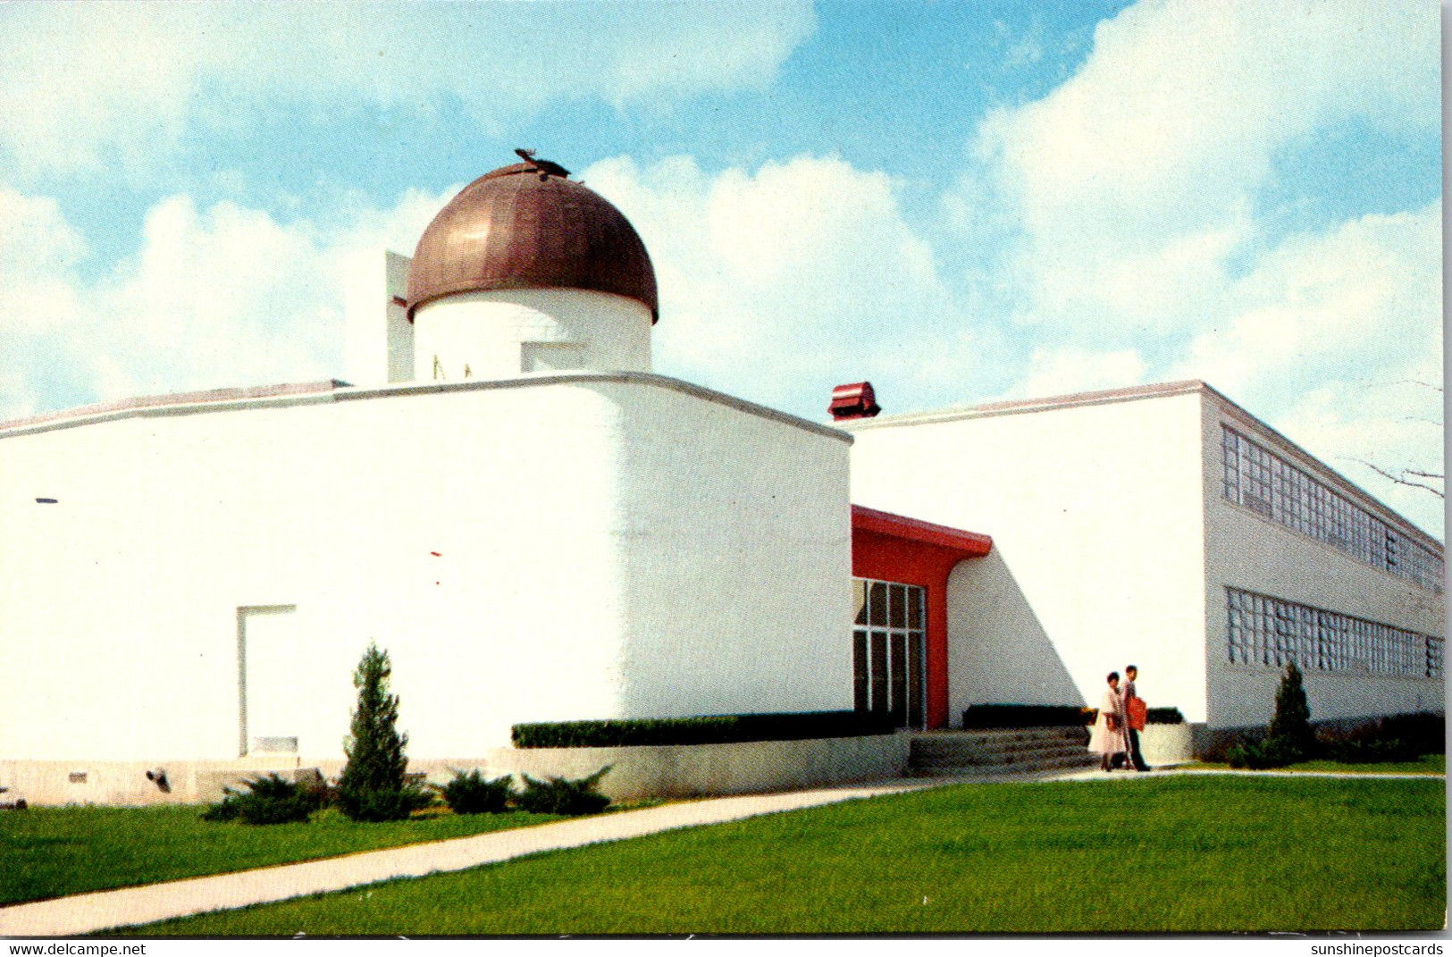
[[[852,501],[982,529],[948,579],[948,710],[1151,704],[1263,725],[1443,706],[1442,546],[1202,382],[842,423]]]

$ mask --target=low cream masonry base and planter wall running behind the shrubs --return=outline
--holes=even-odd
[[[698,797],[788,791],[828,784],[902,777],[908,767],[908,735],[751,741],[729,745],[658,745],[630,748],[492,748],[473,758],[409,761],[412,774],[443,784],[453,770],[479,768],[488,777],[585,777],[607,764],[600,790],[613,800]],[[170,791],[145,773],[166,768]],[[187,805],[216,802],[224,787],[276,771],[292,777],[318,768],[337,778],[341,761],[301,761],[264,755],[237,761],[0,761],[3,797],[32,805]],[[83,774],[84,781],[71,775]]]

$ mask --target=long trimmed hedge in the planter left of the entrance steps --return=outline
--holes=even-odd
[[[515,748],[623,748],[857,738],[892,732],[890,719],[883,716],[860,712],[797,712],[515,725],[511,738]]]

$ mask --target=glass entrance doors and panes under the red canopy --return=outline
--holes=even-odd
[[[852,706],[923,728],[928,635],[923,590],[890,581],[852,581]]]

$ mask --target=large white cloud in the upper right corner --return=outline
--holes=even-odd
[[[993,187],[1021,229],[1022,318],[1195,325],[1257,237],[1279,151],[1349,118],[1436,129],[1437,38],[1413,3],[1146,0],[1101,23],[1073,78],[977,134],[989,171],[966,187]]]

